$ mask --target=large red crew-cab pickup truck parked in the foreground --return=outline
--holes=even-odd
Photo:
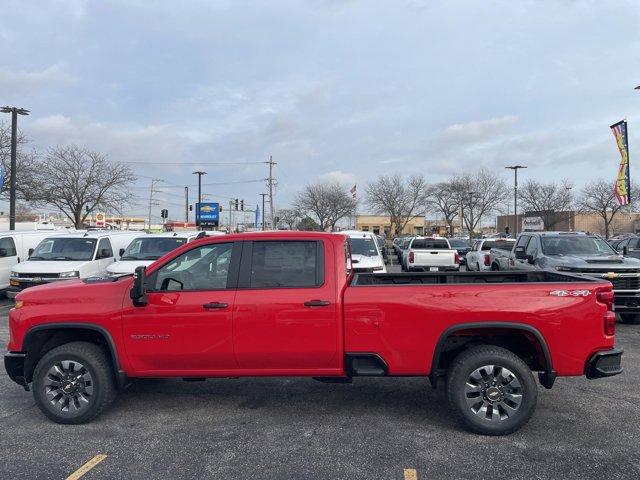
[[[454,415],[501,435],[531,417],[532,372],[622,371],[611,284],[547,271],[355,274],[339,234],[185,244],[135,275],[20,293],[9,376],[55,422],[87,422],[129,378],[446,380]]]

